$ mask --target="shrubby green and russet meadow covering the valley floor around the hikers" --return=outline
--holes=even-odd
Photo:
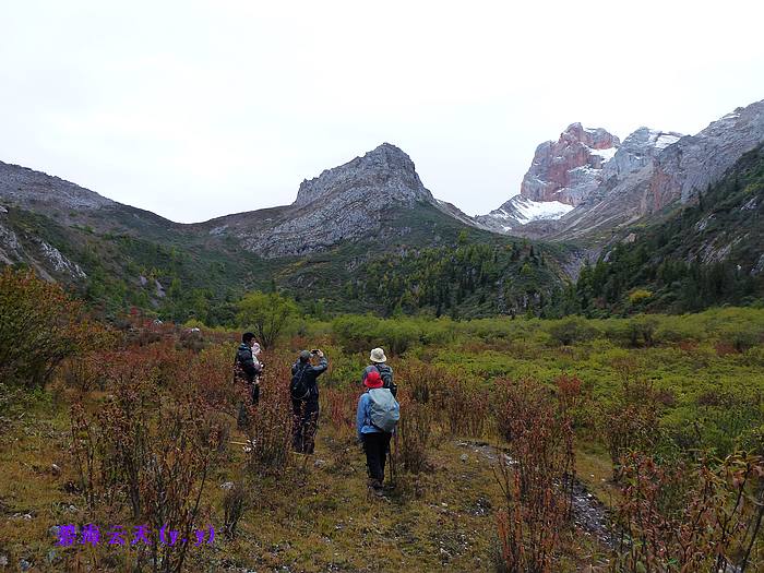
[[[240,332],[138,313],[106,326],[65,297],[56,317],[29,322],[35,297],[14,296],[3,308],[28,312],[0,339],[0,560],[11,571],[764,566],[764,309],[293,317],[260,357],[261,403],[242,431]],[[368,493],[354,427],[374,346],[402,407],[383,498]],[[290,452],[288,369],[315,347],[330,368],[317,451],[303,456]],[[100,542],[58,545],[68,524],[99,526]],[[189,542],[160,544],[165,524]],[[109,545],[116,525],[146,525],[151,544]],[[214,541],[195,547],[210,525]]]

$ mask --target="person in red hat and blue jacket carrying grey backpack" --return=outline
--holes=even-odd
[[[358,441],[363,444],[369,487],[377,496],[382,494],[384,462],[390,449],[390,439],[401,417],[401,408],[390,389],[377,370],[371,370],[363,385],[368,389],[358,398],[356,429]]]

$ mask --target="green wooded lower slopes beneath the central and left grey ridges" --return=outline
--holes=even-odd
[[[102,314],[136,307],[163,320],[211,326],[232,325],[236,303],[251,290],[283,291],[313,313],[539,312],[566,279],[562,261],[570,251],[469,227],[427,203],[390,208],[382,230],[365,239],[271,259],[232,237],[184,231],[170,222],[164,231],[136,226],[142,219],[127,212],[99,226],[86,213],[76,223],[17,206],[0,216],[25,247],[26,259],[14,266],[47,272],[50,264],[38,254],[44,241],[69,265],[48,274]],[[81,273],[70,272],[75,265]]]

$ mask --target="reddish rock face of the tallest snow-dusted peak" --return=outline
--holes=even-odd
[[[584,129],[581,123],[569,126],[557,142],[546,142],[536,148],[521,194],[533,201],[577,205],[601,182],[599,171],[605,158],[593,152],[613,150],[620,143],[604,129]]]

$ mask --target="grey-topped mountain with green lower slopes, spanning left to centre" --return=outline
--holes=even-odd
[[[447,273],[437,279],[444,293],[454,293],[441,297],[445,309],[455,303],[459,283],[469,295],[466,301],[458,297],[463,314],[477,315],[501,312],[504,295],[520,285],[525,299],[515,305],[513,298],[512,305],[536,308],[540,294],[565,279],[560,261],[568,251],[537,246],[537,270],[515,280],[525,261],[520,254],[504,261],[501,253],[530,246],[488,232],[435,200],[410,158],[390,144],[303,181],[291,205],[193,225],[45,174],[4,164],[0,169],[0,265],[28,265],[71,284],[107,313],[138,306],[165,318],[216,324],[232,319],[243,291],[273,285],[305,301],[323,299],[329,310],[389,312],[403,294],[371,296],[367,275],[373,264],[425,251],[450,259],[458,241],[466,241],[464,248],[485,246],[480,256],[500,262],[492,280],[479,284],[468,275],[479,272],[482,260],[443,266]],[[422,299],[416,308],[428,305]]]

